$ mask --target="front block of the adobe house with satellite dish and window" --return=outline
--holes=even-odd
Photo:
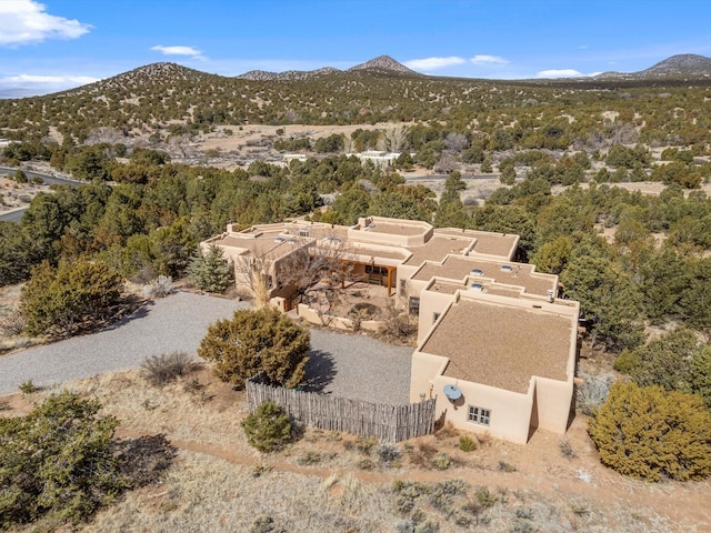
[[[410,401],[435,398],[455,428],[518,444],[539,428],[565,433],[578,302],[441,279],[421,298],[421,314],[439,311],[412,354]]]

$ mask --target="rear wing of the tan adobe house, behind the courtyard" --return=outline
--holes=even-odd
[[[281,282],[280,273],[293,264],[294,254],[340,254],[351,278],[385,286],[389,295],[397,291],[405,296],[408,280],[424,261],[443,261],[451,253],[505,261],[515,253],[518,240],[511,234],[433,229],[415,220],[362,217],[352,227],[294,220],[236,231],[228,224],[224,233],[200,245],[222,249],[234,265],[238,286],[251,286],[250,266],[266,270],[272,304],[288,310],[293,288]]]

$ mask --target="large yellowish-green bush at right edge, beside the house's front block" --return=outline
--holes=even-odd
[[[624,475],[685,481],[711,474],[711,413],[700,396],[615,383],[588,432],[600,461]]]

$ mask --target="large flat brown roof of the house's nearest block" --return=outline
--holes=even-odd
[[[567,380],[571,318],[480,300],[460,300],[422,352],[450,360],[444,375],[525,393],[531,376]]]

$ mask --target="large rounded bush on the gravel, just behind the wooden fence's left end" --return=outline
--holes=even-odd
[[[210,325],[198,355],[214,362],[216,375],[237,388],[260,372],[269,383],[293,388],[306,375],[310,349],[309,330],[262,308],[238,310],[231,320]]]

